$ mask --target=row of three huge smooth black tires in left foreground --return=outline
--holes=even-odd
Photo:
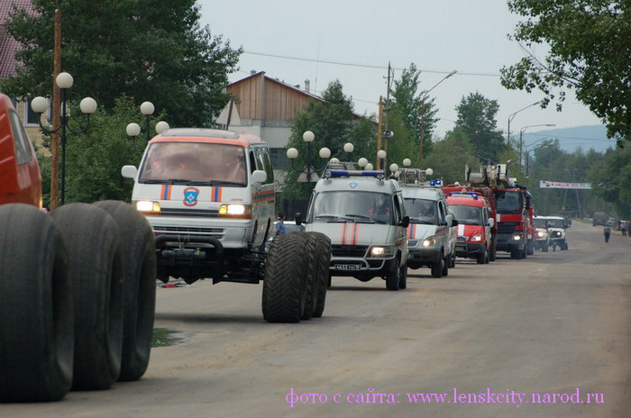
[[[129,204],[0,206],[0,401],[141,378],[155,270],[151,225]]]

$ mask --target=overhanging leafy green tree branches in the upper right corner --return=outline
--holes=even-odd
[[[631,4],[604,0],[509,0],[508,8],[526,17],[512,39],[530,50],[517,64],[501,69],[503,86],[544,93],[544,105],[562,109],[565,92],[607,124],[610,137],[631,133]],[[547,56],[535,47],[547,45]],[[622,143],[621,141],[619,142]]]

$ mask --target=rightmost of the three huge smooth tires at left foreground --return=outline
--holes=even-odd
[[[123,257],[123,352],[120,381],[138,380],[149,366],[156,308],[156,248],[151,225],[130,204],[96,203],[118,225]]]

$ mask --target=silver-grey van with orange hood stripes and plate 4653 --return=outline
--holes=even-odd
[[[331,276],[367,282],[381,277],[389,290],[407,287],[409,218],[398,182],[380,170],[329,163],[315,185],[305,231],[321,232],[332,244]]]

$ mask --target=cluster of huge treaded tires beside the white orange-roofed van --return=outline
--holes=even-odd
[[[263,318],[297,323],[325,311],[331,240],[320,232],[289,232],[270,244],[263,278]]]

